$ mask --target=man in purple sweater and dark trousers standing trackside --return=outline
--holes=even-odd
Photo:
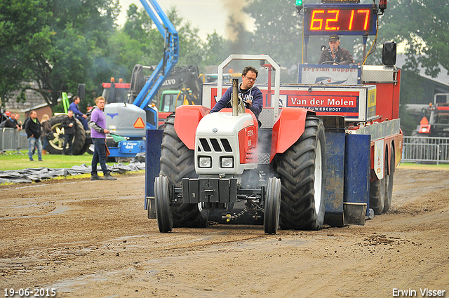
[[[106,118],[103,113],[105,109],[105,97],[98,97],[95,100],[97,109],[94,109],[91,114],[91,138],[95,146],[92,157],[91,180],[117,180],[116,177],[111,176],[111,172],[106,168],[106,134],[109,133],[106,127]],[[100,162],[103,177],[98,176],[97,164]]]

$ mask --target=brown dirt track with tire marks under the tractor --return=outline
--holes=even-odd
[[[1,187],[0,294],[449,297],[449,171],[399,168],[391,210],[365,226],[276,236],[218,224],[159,233],[144,184],[140,174]]]

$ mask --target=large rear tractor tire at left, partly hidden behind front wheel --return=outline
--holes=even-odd
[[[162,134],[161,172],[170,184],[180,187],[182,178],[196,178],[194,151],[189,150],[177,137],[175,116],[168,116]],[[173,227],[201,228],[208,223],[208,210],[200,210],[199,204],[179,203],[171,208]]]

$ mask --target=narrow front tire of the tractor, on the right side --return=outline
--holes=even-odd
[[[269,178],[267,195],[265,198],[264,231],[275,234],[279,228],[279,211],[281,210],[281,180],[276,177]]]

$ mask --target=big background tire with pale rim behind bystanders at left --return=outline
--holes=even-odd
[[[51,130],[55,138],[48,141],[47,151],[51,154],[62,154],[62,145],[64,144],[64,128],[62,127],[62,119],[66,115],[54,116],[50,119]],[[79,154],[83,149],[86,133],[84,133],[83,123],[76,119],[75,135],[72,141],[72,153]]]

